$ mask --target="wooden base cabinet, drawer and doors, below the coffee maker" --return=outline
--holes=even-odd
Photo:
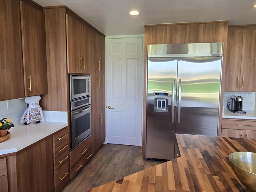
[[[256,121],[222,120],[222,137],[256,138]]]

